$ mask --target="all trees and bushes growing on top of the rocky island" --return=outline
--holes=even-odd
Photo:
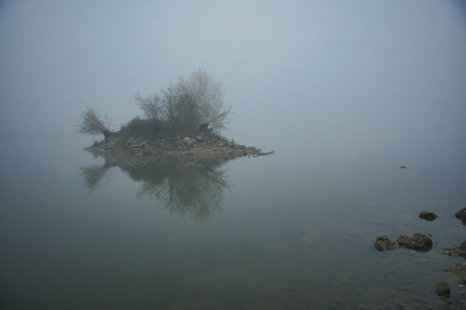
[[[121,126],[120,132],[128,135],[157,136],[170,132],[213,132],[219,134],[227,129],[226,124],[232,113],[231,106],[223,109],[223,85],[212,74],[198,68],[185,80],[178,76],[176,83],[170,83],[161,95],[157,93],[143,98],[134,95],[137,106],[143,110],[143,118],[133,118]],[[82,112],[76,126],[79,133],[103,134],[105,141],[110,137],[112,119],[107,113],[101,116],[91,108]],[[210,128],[209,128],[210,127]]]

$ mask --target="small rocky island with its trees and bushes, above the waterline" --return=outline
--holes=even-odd
[[[134,99],[144,116],[137,115],[112,132],[113,119],[101,116],[90,106],[76,121],[78,133],[103,135],[100,142],[85,148],[89,152],[132,156],[185,156],[192,158],[226,158],[246,155],[269,155],[254,146],[240,145],[220,136],[231,119],[231,106],[223,110],[222,82],[198,68],[189,79],[181,76],[170,83],[162,96],[157,93]]]

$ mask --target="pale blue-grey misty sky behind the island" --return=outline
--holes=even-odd
[[[0,42],[3,140],[66,136],[82,102],[118,130],[200,66],[222,135],[264,151],[466,149],[464,1],[2,1]]]

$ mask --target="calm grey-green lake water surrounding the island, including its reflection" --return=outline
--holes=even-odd
[[[465,259],[438,254],[466,239],[464,163],[312,148],[140,160],[61,143],[1,151],[1,309],[443,309],[438,280],[465,290],[443,271]],[[373,246],[415,232],[438,244]]]

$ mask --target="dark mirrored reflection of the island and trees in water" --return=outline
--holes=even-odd
[[[170,214],[184,216],[202,223],[222,208],[223,191],[229,190],[227,169],[221,169],[234,158],[188,157],[114,157],[96,155],[105,159],[103,165],[78,168],[82,185],[95,191],[111,180],[110,168],[118,166],[134,181],[142,182],[137,199],[147,195],[156,204],[164,205]]]

